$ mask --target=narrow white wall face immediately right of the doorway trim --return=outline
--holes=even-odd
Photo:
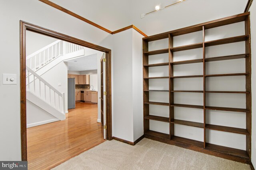
[[[133,142],[132,29],[114,34],[113,48],[112,135]]]

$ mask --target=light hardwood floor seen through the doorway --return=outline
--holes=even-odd
[[[66,120],[28,128],[28,169],[53,168],[104,142],[97,108],[97,104],[76,102]]]

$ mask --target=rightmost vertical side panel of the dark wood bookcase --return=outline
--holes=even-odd
[[[249,74],[246,75],[246,109],[250,112],[246,113],[246,130],[249,132],[249,135],[246,135],[246,151],[249,158],[251,159],[251,137],[252,137],[252,94],[251,94],[251,35],[250,35],[250,15],[246,17],[244,22],[245,34],[249,35],[249,38],[245,41],[245,52],[249,54],[245,58],[245,71]]]

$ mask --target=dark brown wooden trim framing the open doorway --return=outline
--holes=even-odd
[[[20,21],[20,130],[22,161],[27,161],[27,128],[26,128],[26,30],[78,44],[106,53],[106,125],[107,140],[112,140],[112,91],[111,91],[111,50],[74,38],[59,32],[48,30],[24,21]]]

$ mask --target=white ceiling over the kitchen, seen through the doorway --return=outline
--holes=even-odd
[[[75,58],[66,62],[70,71],[97,70],[97,54]]]

